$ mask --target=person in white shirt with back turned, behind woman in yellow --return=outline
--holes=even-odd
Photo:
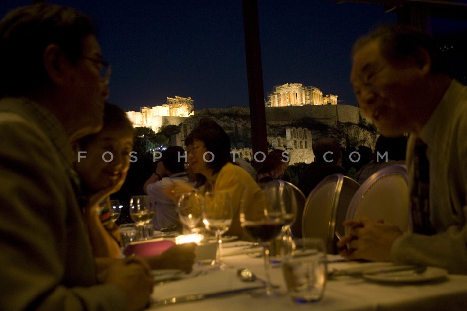
[[[185,150],[182,147],[167,147],[161,152],[161,160],[157,163],[155,173],[144,183],[144,193],[152,196],[156,204],[156,215],[152,223],[157,230],[175,226],[181,232],[182,225],[177,217],[175,202],[163,190],[172,183],[190,183],[185,172],[184,159]]]

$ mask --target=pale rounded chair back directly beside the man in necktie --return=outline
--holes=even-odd
[[[405,165],[389,165],[361,184],[349,204],[347,219],[384,220],[411,231],[408,174]],[[348,233],[348,232],[346,232]]]

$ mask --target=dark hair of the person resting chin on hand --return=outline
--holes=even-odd
[[[128,131],[134,133],[133,123],[131,123],[130,119],[128,119],[126,112],[123,111],[119,106],[106,102],[104,104],[104,122],[102,130],[108,127],[117,129],[125,128],[128,129]],[[97,134],[99,133],[90,134],[80,138],[78,140],[78,145],[80,148],[85,149],[88,143],[94,139]]]

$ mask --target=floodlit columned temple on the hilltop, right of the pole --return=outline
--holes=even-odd
[[[303,86],[301,83],[286,83],[276,86],[268,95],[268,107],[286,107],[303,105],[337,104],[337,95],[326,95],[314,86]]]

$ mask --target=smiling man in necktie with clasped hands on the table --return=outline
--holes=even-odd
[[[467,86],[452,79],[436,42],[407,26],[382,26],[353,48],[351,82],[362,114],[382,135],[410,133],[406,164],[413,232],[347,220],[348,260],[393,261],[467,273]]]

